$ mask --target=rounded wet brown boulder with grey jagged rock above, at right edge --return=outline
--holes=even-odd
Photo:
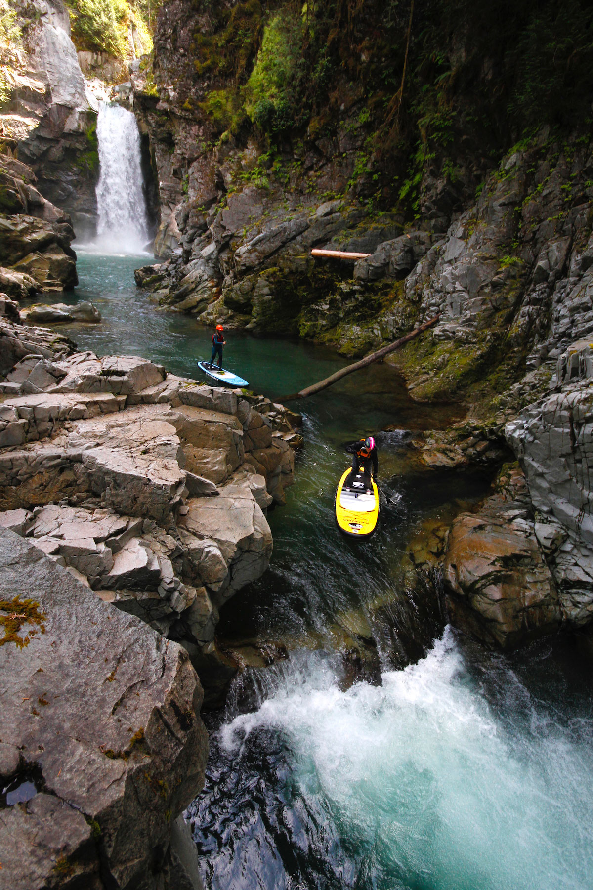
[[[506,425],[522,467],[514,491],[451,529],[452,614],[503,647],[560,624],[577,631],[593,617],[590,352],[589,343],[569,346],[550,391]]]

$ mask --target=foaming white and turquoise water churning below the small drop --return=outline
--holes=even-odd
[[[259,728],[286,735],[307,811],[332,813],[362,856],[360,886],[593,886],[590,732],[549,722],[541,731],[534,701],[531,724],[509,731],[450,632],[381,687],[341,692],[314,654],[288,666],[285,681],[255,714],[223,726],[223,748],[240,758]]]

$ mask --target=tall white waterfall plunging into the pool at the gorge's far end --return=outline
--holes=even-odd
[[[102,102],[97,138],[100,174],[95,247],[104,253],[142,253],[149,234],[136,118],[119,105]]]

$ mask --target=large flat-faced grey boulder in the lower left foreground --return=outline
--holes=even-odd
[[[0,626],[0,775],[37,791],[0,811],[4,886],[176,886],[171,822],[207,758],[187,653],[8,530],[0,562],[1,614],[28,637]]]

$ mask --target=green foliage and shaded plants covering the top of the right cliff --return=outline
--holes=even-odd
[[[411,16],[411,0],[195,3],[194,68],[220,131],[307,149],[346,118],[368,159],[349,187],[409,218],[431,176],[469,197],[526,134],[590,114],[589,0],[417,0]]]

